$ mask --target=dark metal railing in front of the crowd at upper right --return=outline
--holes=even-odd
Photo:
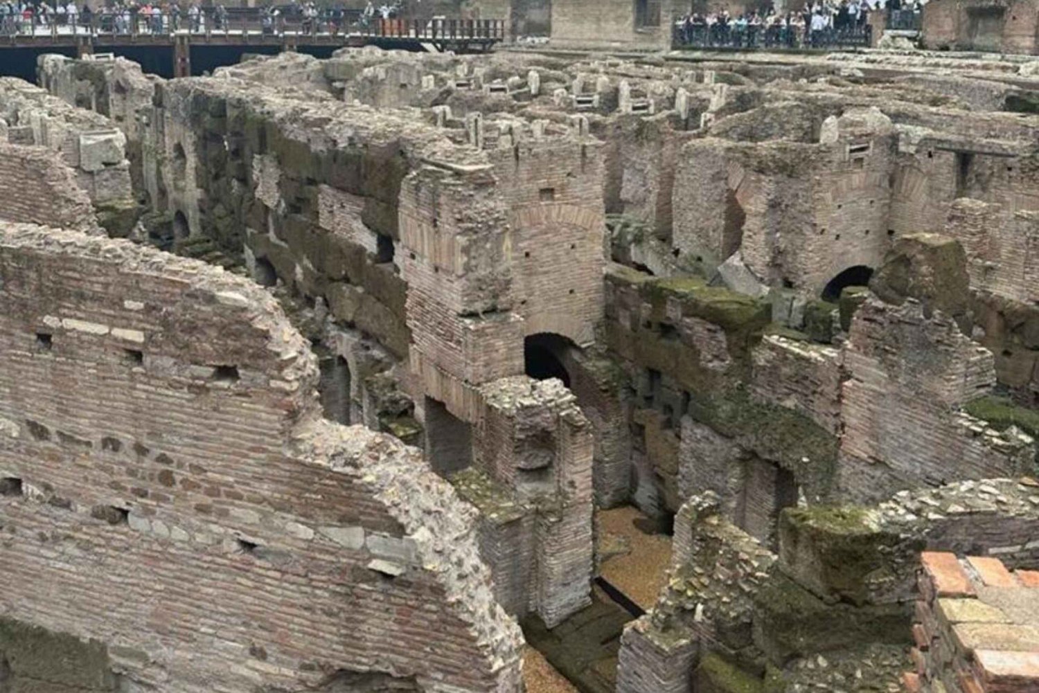
[[[869,47],[873,28],[869,24],[805,30],[803,26],[765,26],[737,24],[675,25],[675,46],[691,48],[728,48],[744,50],[833,49]]]

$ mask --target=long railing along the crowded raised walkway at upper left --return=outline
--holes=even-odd
[[[198,12],[145,14],[137,9],[101,9],[75,16],[42,18],[0,15],[0,36],[161,36],[192,35],[357,35],[419,41],[501,41],[502,20],[376,19],[358,12],[324,11],[316,16],[273,15],[254,10],[205,8]]]

